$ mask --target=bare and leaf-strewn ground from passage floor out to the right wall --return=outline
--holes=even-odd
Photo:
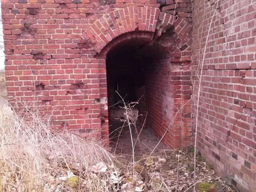
[[[132,163],[132,141],[134,144],[134,159],[135,159],[135,171],[140,167],[145,168],[145,174],[151,178],[149,183],[143,176],[139,176],[138,180],[141,181],[141,186],[147,188],[148,191],[154,192],[157,189],[154,187],[154,182],[163,182],[164,186],[160,186],[157,191],[193,191],[193,175],[194,175],[194,150],[168,150],[164,149],[164,146],[159,143],[159,139],[156,138],[154,132],[147,126],[142,127],[142,124],[137,120],[136,127],[125,121],[126,116],[125,109],[122,107],[111,107],[109,119],[109,131],[110,131],[110,147],[112,152],[117,156],[120,156],[124,161],[124,167],[131,167]],[[134,120],[138,114],[136,107],[132,108],[130,120]],[[132,118],[131,118],[132,117]],[[131,140],[132,137],[132,140]],[[157,147],[156,147],[157,146]],[[156,147],[156,148],[155,148]],[[155,149],[153,152],[152,150]],[[211,191],[211,192],[234,192],[235,189],[231,188],[226,182],[222,181],[220,177],[215,175],[212,170],[212,165],[206,164],[205,159],[197,155],[196,156],[196,191]],[[146,164],[146,165],[145,165]],[[178,180],[177,180],[177,168],[179,168]],[[127,182],[132,175],[132,169],[121,168],[124,180],[124,185],[132,185],[131,182]],[[128,179],[127,179],[128,178]],[[153,185],[152,185],[153,180]],[[177,184],[177,189],[176,189]],[[140,185],[137,188],[141,187]],[[205,188],[206,186],[206,188]],[[122,188],[122,187],[121,187]],[[146,189],[145,189],[146,190]],[[146,190],[146,191],[147,191]],[[121,190],[122,191],[122,190]],[[124,190],[126,191],[126,190]],[[127,190],[130,191],[130,190]],[[144,191],[144,190],[142,190]]]

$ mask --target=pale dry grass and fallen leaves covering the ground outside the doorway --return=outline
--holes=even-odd
[[[6,92],[5,82],[1,85]],[[24,108],[26,113],[19,116],[0,100],[0,191],[193,190],[193,150],[151,150],[132,157],[113,154],[93,138],[51,129],[51,117],[39,116],[36,106]],[[132,108],[127,109],[126,117],[135,126],[129,115]],[[202,160],[197,157],[197,180],[221,181]]]

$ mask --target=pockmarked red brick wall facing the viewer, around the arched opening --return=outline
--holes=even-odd
[[[35,101],[57,128],[108,138],[106,54],[118,43],[141,38],[163,44],[173,61],[191,60],[188,0],[166,1],[162,11],[156,0],[1,2],[8,100],[18,111]]]

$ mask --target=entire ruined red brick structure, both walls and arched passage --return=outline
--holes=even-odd
[[[198,149],[223,179],[255,191],[253,0],[1,0],[8,100],[36,101],[52,126],[108,145],[116,82],[169,148],[193,146],[193,92],[206,48]],[[201,38],[202,37],[202,38]],[[125,78],[124,78],[125,77]],[[124,83],[125,84],[125,83]],[[128,86],[127,86],[128,87]]]

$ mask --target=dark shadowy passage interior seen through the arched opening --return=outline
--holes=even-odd
[[[135,152],[153,149],[171,122],[170,69],[168,59],[162,59],[164,53],[160,46],[134,38],[116,44],[107,54],[109,138],[110,146],[119,152],[132,152],[131,135],[135,143],[139,133]],[[134,104],[131,105],[131,121],[139,115],[136,119],[137,130],[131,126],[132,134],[123,121],[126,116],[121,97],[126,105],[138,101],[134,107]],[[171,139],[170,133],[166,136],[162,141],[167,143]]]

